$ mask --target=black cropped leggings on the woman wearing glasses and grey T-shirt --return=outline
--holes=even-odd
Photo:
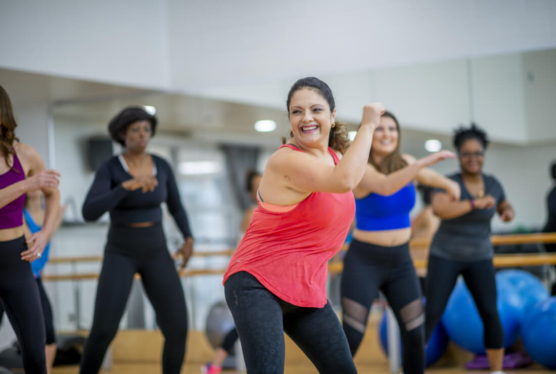
[[[463,275],[483,320],[485,347],[503,348],[504,332],[496,308],[496,281],[492,259],[456,261],[435,255],[429,256],[425,290],[426,337],[430,338],[436,323],[440,321],[459,274]]]

